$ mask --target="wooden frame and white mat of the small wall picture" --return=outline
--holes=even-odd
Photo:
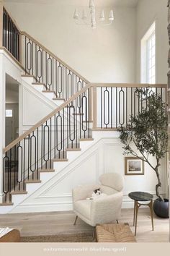
[[[143,159],[143,157],[141,157]],[[145,172],[144,172],[144,161],[140,159],[140,158],[137,158],[135,156],[125,156],[125,175],[144,175]],[[141,171],[128,171],[128,161],[140,161],[140,169]]]

